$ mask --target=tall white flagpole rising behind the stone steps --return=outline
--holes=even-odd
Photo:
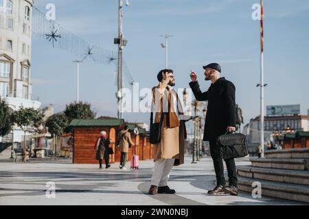
[[[264,157],[264,8],[261,0],[261,141],[262,157]]]

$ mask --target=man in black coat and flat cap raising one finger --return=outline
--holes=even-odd
[[[235,86],[225,77],[220,77],[221,67],[219,64],[211,63],[203,66],[205,69],[205,80],[211,81],[207,92],[201,92],[196,73],[192,72],[190,87],[197,101],[208,101],[207,115],[205,120],[204,141],[209,141],[211,157],[214,161],[217,186],[209,190],[208,194],[238,195],[238,180],[236,164],[234,159],[225,159],[229,175],[229,186],[225,186],[223,162],[220,158],[220,150],[217,146],[217,138],[227,133],[236,131],[236,102]]]

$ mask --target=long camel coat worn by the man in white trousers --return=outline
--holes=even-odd
[[[152,96],[156,110],[155,123],[160,122],[162,108],[164,114],[161,142],[154,144],[154,161],[156,162],[158,159],[176,159],[175,166],[184,164],[185,138],[187,136],[185,123],[179,120],[176,115],[177,110],[180,113],[183,112],[180,101],[177,101],[176,107],[178,109],[175,109],[176,91],[168,89],[168,84],[163,80],[158,86],[152,88]]]

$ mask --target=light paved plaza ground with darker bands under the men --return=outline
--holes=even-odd
[[[249,159],[236,164],[249,165]],[[130,163],[127,163],[129,167]],[[99,170],[98,165],[71,164],[70,160],[35,160],[27,164],[0,162],[0,205],[299,205],[302,203],[276,198],[209,196],[216,179],[210,157],[174,167],[170,188],[176,194],[149,196],[152,161],[140,162],[139,170],[120,170],[119,164]],[[56,197],[47,198],[47,183],[56,185]]]

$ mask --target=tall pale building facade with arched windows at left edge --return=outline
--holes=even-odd
[[[33,0],[0,0],[0,96],[12,110],[41,106],[32,101],[32,6]]]

